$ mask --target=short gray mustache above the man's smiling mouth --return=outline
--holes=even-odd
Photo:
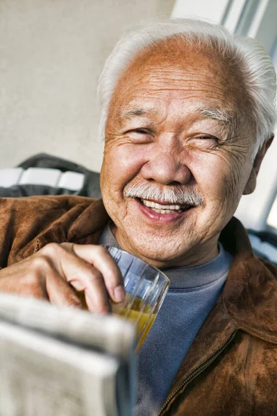
[[[126,198],[158,200],[176,205],[203,205],[203,196],[196,190],[187,190],[181,185],[167,185],[162,189],[152,184],[127,184],[124,188]]]

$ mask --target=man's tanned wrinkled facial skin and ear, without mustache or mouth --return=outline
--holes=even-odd
[[[199,107],[227,110],[233,122]],[[170,40],[135,58],[112,96],[101,169],[103,202],[122,248],[158,267],[196,266],[217,255],[219,233],[242,193],[255,189],[268,146],[253,163],[248,108],[240,74],[209,51]],[[203,204],[174,220],[153,220],[124,196],[137,182],[181,184],[199,191]]]

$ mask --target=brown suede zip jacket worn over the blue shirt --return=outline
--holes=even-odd
[[[53,241],[96,244],[108,220],[101,200],[74,196],[0,199],[0,213],[1,267]],[[254,256],[235,218],[220,240],[233,254],[224,291],[160,415],[277,415],[277,268]]]

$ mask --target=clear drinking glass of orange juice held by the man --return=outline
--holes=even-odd
[[[169,288],[168,277],[139,257],[124,250],[105,245],[117,262],[124,279],[124,301],[112,302],[112,313],[130,320],[137,328],[136,351],[140,349],[156,319]]]

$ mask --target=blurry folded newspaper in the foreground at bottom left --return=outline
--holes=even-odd
[[[135,328],[0,293],[0,416],[131,416]]]

